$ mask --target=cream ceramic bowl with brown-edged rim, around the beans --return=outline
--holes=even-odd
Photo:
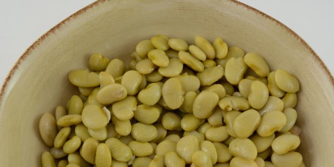
[[[193,43],[201,35],[222,37],[229,46],[262,55],[271,70],[298,76],[298,121],[307,166],[331,166],[334,146],[334,80],[316,53],[294,31],[270,16],[233,0],[98,1],[53,27],[17,61],[0,94],[0,166],[41,166],[49,148],[38,133],[45,112],[77,90],[67,74],[86,68],[100,52],[129,61],[142,39],[155,34]]]

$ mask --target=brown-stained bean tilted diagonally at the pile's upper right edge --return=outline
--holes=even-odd
[[[268,76],[269,67],[266,61],[256,53],[247,53],[244,57],[245,63],[251,68],[256,74],[261,77]]]

